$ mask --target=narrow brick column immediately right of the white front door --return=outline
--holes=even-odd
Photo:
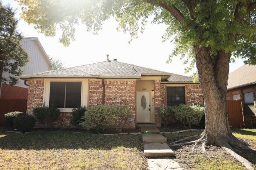
[[[154,96],[155,96],[155,123],[161,126],[161,121],[158,119],[157,108],[161,106],[161,80],[154,80]]]

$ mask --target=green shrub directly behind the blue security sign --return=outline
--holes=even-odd
[[[118,120],[118,127],[116,131],[121,132],[124,125],[128,123],[128,119],[131,116],[131,108],[128,105],[114,106],[114,115]]]

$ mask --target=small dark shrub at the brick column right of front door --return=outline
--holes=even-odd
[[[170,117],[173,115],[172,107],[171,106],[159,106],[157,108],[157,115],[159,119],[161,119],[164,127],[167,127]]]

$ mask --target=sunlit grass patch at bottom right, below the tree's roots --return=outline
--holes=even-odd
[[[209,160],[202,156],[196,156],[192,160],[192,164],[195,166],[193,170],[247,170],[234,160],[223,160],[220,157]]]

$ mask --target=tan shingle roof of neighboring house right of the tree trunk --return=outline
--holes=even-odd
[[[228,74],[228,89],[256,83],[256,66],[245,64]]]

